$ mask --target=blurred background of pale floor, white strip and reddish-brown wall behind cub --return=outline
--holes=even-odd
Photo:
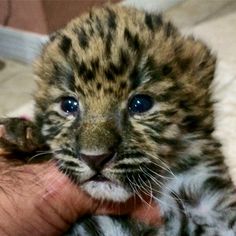
[[[106,0],[0,0],[0,117],[33,116],[32,63],[48,34]],[[236,181],[236,0],[110,0],[163,12],[183,34],[205,41],[218,56],[212,85],[215,135]]]

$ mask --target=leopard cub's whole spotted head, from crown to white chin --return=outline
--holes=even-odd
[[[45,46],[36,121],[60,170],[95,198],[125,201],[160,187],[211,133],[213,73],[206,47],[159,15],[95,9]]]

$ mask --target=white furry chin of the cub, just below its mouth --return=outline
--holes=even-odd
[[[81,185],[81,188],[93,198],[114,202],[125,202],[133,195],[132,192],[110,181],[88,181]]]

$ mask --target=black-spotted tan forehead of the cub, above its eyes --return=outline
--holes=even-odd
[[[93,9],[50,38],[41,67],[47,80],[64,80],[70,90],[121,93],[146,79],[155,61],[154,37],[162,44],[174,33],[160,15],[119,6]]]

